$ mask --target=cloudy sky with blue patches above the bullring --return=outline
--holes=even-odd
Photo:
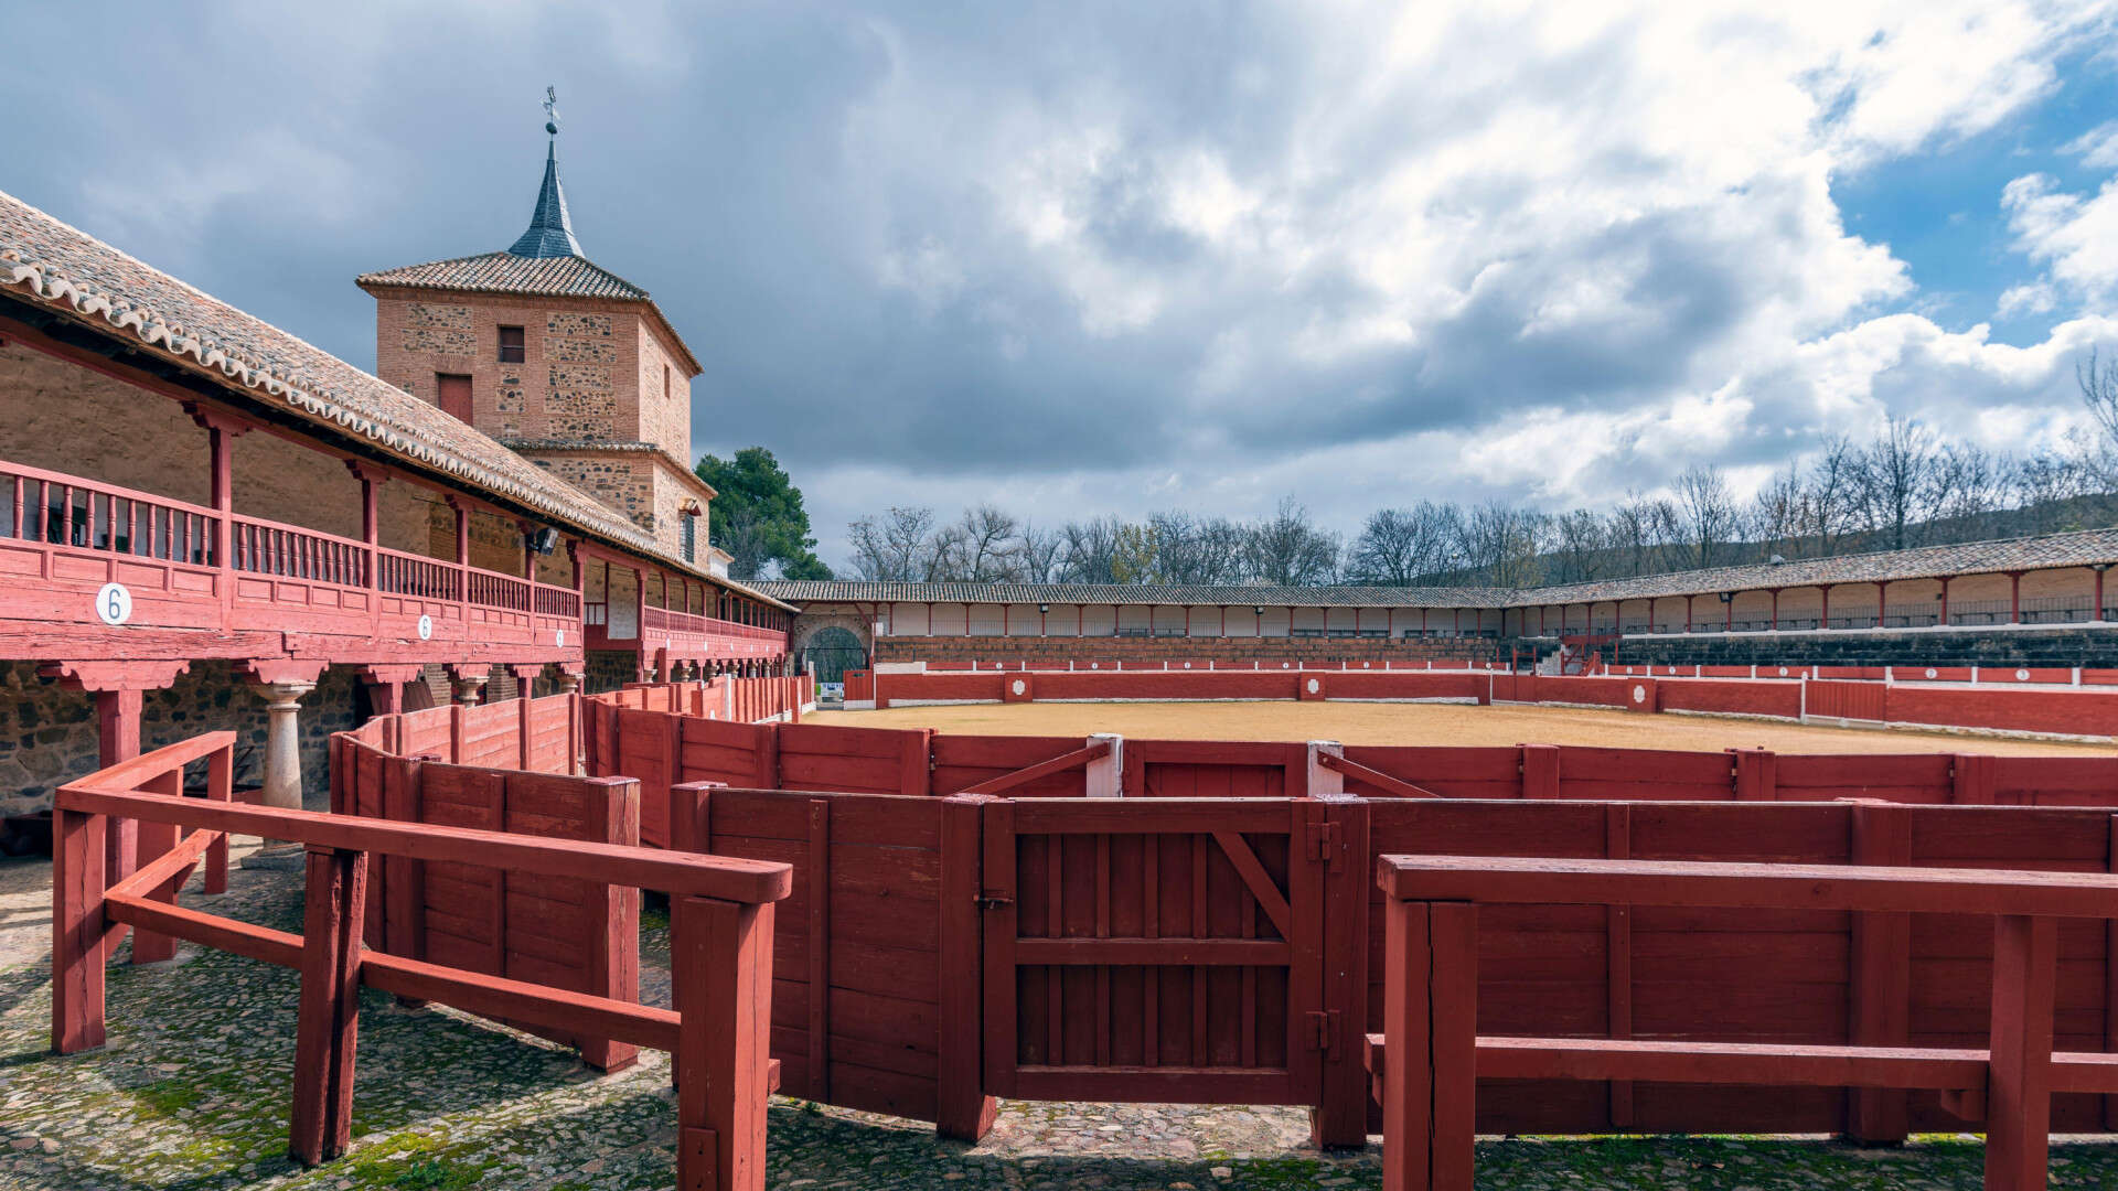
[[[504,248],[559,87],[591,259],[824,540],[1294,494],[1752,487],[1995,449],[2118,345],[2114,4],[4,2],[0,189],[373,367],[364,269]]]

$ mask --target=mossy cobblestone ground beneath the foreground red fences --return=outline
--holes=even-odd
[[[299,928],[292,873],[237,871],[186,905]],[[110,971],[110,1045],[49,1053],[49,867],[0,860],[0,1187],[629,1189],[669,1187],[663,1055],[599,1077],[572,1053],[443,1009],[362,998],[354,1149],[286,1159],[294,973],[184,945]],[[667,994],[665,920],[648,916],[644,992]],[[119,960],[125,958],[121,949]],[[775,1100],[771,1185],[813,1189],[1243,1191],[1379,1187],[1375,1151],[1320,1155],[1298,1110],[1006,1104],[976,1144],[913,1121]],[[1857,1151],[1788,1138],[1536,1138],[1478,1146],[1504,1189],[1974,1189],[1968,1138]],[[2118,1142],[2059,1144],[2054,1187],[2118,1187]]]

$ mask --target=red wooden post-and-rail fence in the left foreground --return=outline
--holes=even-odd
[[[227,767],[235,733],[208,733],[70,782],[57,793],[53,850],[53,1049],[104,1045],[104,962],[116,926],[191,939],[301,971],[290,1153],[318,1163],[352,1138],[360,985],[438,1000],[549,1030],[589,1030],[665,1049],[678,1079],[678,1187],[762,1191],[771,1085],[773,903],[784,865],[646,852],[612,843],[523,839],[517,833],[381,822],[341,814],[182,799],[184,765]],[[152,841],[131,877],[104,888],[112,822]],[[189,829],[189,833],[186,833]],[[301,935],[178,905],[191,867],[227,833],[307,846]],[[671,894],[676,1011],[362,947],[373,856],[481,865],[546,884],[650,886]]]

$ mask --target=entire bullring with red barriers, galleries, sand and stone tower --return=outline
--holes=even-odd
[[[743,583],[536,212],[369,375],[0,195],[0,1180],[2118,1178],[2118,532]]]

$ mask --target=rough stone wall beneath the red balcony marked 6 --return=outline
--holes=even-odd
[[[265,699],[225,661],[193,661],[165,691],[140,699],[140,748],[152,750],[203,731],[231,729],[235,784],[265,780]],[[366,716],[366,691],[352,670],[326,670],[301,701],[303,799],[330,803],[326,740]],[[95,695],[36,676],[36,663],[0,661],[0,814],[51,807],[66,782],[97,769]]]

